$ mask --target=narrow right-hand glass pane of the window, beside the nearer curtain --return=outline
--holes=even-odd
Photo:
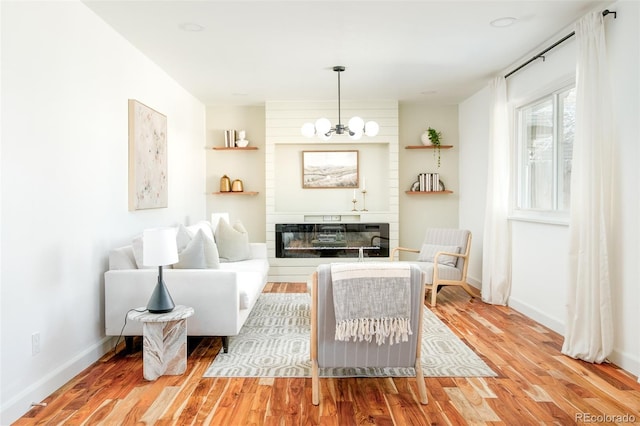
[[[560,93],[558,108],[562,117],[560,127],[560,146],[558,147],[558,210],[569,210],[571,196],[571,161],[573,158],[573,139],[576,124],[576,89]]]

